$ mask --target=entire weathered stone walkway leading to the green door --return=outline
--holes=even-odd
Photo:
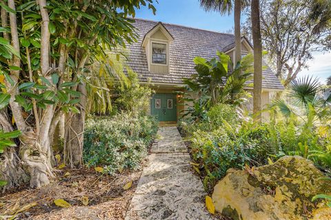
[[[177,127],[160,127],[157,136],[126,220],[214,219],[205,208],[205,190],[193,174]]]

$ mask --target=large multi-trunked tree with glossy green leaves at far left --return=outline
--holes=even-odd
[[[9,123],[22,131],[16,160],[6,166],[19,169],[23,164],[30,186],[39,187],[54,177],[51,142],[63,113],[64,161],[81,165],[86,66],[93,60],[106,65],[105,50],[134,41],[137,35],[128,15],[134,16],[140,5],[155,9],[152,0],[1,2],[1,105],[9,103]]]

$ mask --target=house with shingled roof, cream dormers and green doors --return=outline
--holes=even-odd
[[[183,91],[183,78],[195,73],[194,57],[210,60],[220,51],[234,61],[234,35],[144,19],[135,21],[139,37],[137,43],[128,46],[128,65],[139,74],[141,83],[152,81],[156,94],[150,101],[150,113],[160,121],[175,122],[183,110],[176,91]],[[252,52],[245,38],[241,50],[242,54]],[[262,85],[263,105],[270,102],[270,93],[283,90],[269,67],[263,70]]]

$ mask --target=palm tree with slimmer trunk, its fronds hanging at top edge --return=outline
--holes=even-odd
[[[221,14],[230,14],[233,8],[232,0],[200,0],[200,5],[205,11],[216,11]],[[241,8],[246,5],[245,0],[234,0],[234,36],[235,36],[235,63],[241,59]]]

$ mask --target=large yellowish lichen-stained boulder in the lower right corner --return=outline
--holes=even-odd
[[[310,160],[286,156],[270,165],[229,169],[212,200],[218,212],[235,220],[331,220],[326,201],[311,202],[317,194],[331,195],[331,181]]]

